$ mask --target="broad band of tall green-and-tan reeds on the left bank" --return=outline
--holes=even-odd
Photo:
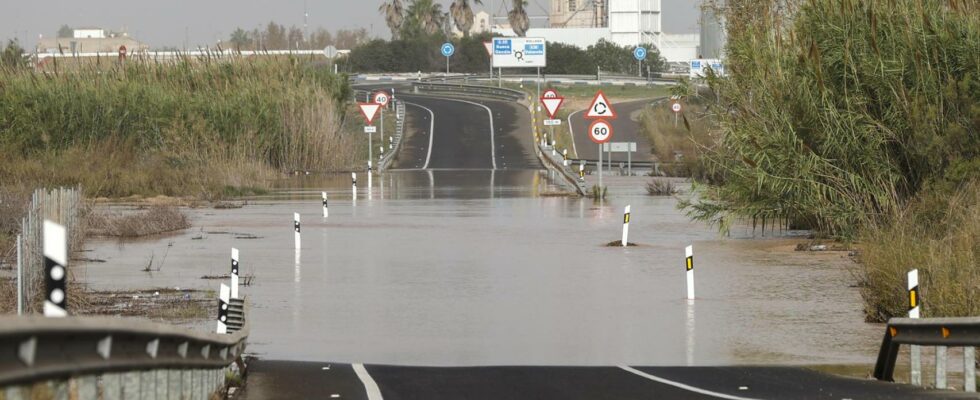
[[[105,61],[0,69],[0,181],[93,197],[219,198],[278,171],[347,167],[343,76],[305,61]]]

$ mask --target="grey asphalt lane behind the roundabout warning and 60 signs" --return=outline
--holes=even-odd
[[[610,141],[636,142],[636,152],[632,156],[634,161],[650,161],[650,141],[641,131],[639,120],[634,121],[632,117],[652,101],[652,99],[645,99],[613,104],[613,109],[616,110],[618,118],[611,121],[613,137]],[[575,150],[578,152],[578,158],[597,160],[599,158],[599,145],[589,139],[588,133],[592,120],[585,119],[583,111],[585,110],[576,111],[568,116],[572,137],[575,139]],[[602,155],[602,159],[603,161],[607,160],[606,154]],[[626,162],[626,159],[626,153],[612,153],[614,163]]]

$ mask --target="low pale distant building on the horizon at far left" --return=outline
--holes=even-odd
[[[43,38],[37,43],[38,53],[116,53],[125,46],[126,51],[146,51],[146,43],[132,38],[126,32],[112,32],[102,28],[75,28],[72,37]]]

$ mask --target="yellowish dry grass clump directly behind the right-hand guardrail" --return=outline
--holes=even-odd
[[[891,224],[867,229],[862,247],[869,321],[905,315],[906,273],[916,268],[923,316],[980,315],[980,182],[953,196],[916,199]]]

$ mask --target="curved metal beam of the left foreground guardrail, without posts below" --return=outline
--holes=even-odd
[[[249,334],[244,301],[232,300],[229,309],[229,328],[235,327],[230,334],[129,318],[0,318],[0,387],[118,372],[223,369],[242,355]],[[209,375],[211,383],[223,385],[223,373]]]

